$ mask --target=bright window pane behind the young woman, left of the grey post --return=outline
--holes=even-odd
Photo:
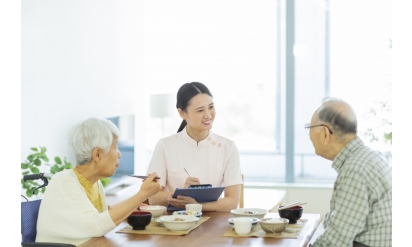
[[[217,111],[213,131],[236,142],[242,169],[272,177],[279,173],[266,155],[278,146],[277,11],[276,1],[157,1],[146,2],[144,11],[147,97],[204,83]],[[145,143],[153,150],[161,120],[149,115]],[[181,119],[176,111],[163,121],[165,133],[173,134]]]

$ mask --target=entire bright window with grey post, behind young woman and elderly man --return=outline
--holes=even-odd
[[[367,145],[368,107],[390,101],[389,1],[295,0],[288,8],[291,2],[145,2],[147,102],[151,94],[176,95],[185,82],[207,85],[217,110],[213,131],[236,142],[250,183],[331,183],[331,161],[314,153],[304,130],[321,100],[352,104]],[[294,33],[293,84],[285,73],[288,31]],[[148,164],[162,120],[151,119],[149,110],[145,119]],[[170,135],[181,119],[176,111],[163,121]]]

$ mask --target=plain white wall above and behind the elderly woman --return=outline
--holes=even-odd
[[[22,161],[45,146],[49,158],[75,163],[67,143],[75,123],[142,112],[142,5],[22,0]]]

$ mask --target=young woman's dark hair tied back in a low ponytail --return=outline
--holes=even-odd
[[[179,91],[177,91],[176,108],[180,108],[182,109],[182,111],[186,112],[186,108],[189,105],[189,101],[196,95],[203,93],[208,94],[210,97],[213,97],[209,89],[200,82],[191,82],[183,84],[179,88]],[[179,129],[177,130],[177,133],[182,131],[186,125],[186,120],[183,119]]]

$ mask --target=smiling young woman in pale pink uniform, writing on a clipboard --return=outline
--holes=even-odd
[[[198,202],[188,196],[172,198],[176,188],[212,184],[225,186],[224,196],[202,203],[203,211],[237,208],[243,183],[239,152],[233,141],[211,131],[216,110],[209,89],[200,82],[182,85],[177,92],[176,108],[182,124],[177,134],[158,141],[147,170],[162,178],[160,191],[149,197],[149,203],[184,208]]]

